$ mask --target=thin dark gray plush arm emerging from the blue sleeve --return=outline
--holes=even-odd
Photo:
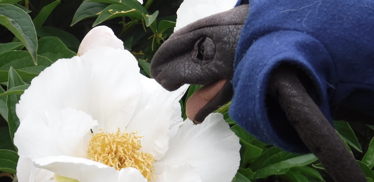
[[[367,181],[355,158],[307,94],[294,70],[285,67],[275,70],[268,93],[278,100],[301,140],[335,181]]]

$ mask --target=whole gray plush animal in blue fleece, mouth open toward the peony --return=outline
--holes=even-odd
[[[152,76],[168,90],[205,85],[187,101],[196,124],[232,99],[230,117],[258,139],[312,152],[335,181],[367,181],[332,120],[374,124],[374,3],[250,3],[172,34]]]

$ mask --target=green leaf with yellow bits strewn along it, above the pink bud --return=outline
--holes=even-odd
[[[98,24],[101,24],[108,19],[117,18],[121,16],[129,16],[138,19],[142,19],[143,15],[140,11],[136,9],[132,9],[127,6],[118,5],[118,4],[111,4],[106,7],[100,13],[99,17],[97,17],[96,21],[93,23],[92,27],[95,27]]]

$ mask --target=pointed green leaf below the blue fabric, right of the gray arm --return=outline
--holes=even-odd
[[[346,121],[334,121],[335,129],[340,134],[341,138],[347,142],[348,145],[362,152],[361,146],[356,138],[355,133]]]

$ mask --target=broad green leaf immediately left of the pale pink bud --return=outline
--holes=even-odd
[[[61,58],[72,58],[77,55],[75,52],[68,49],[57,37],[40,38],[38,44],[38,55],[44,56],[52,62]]]

